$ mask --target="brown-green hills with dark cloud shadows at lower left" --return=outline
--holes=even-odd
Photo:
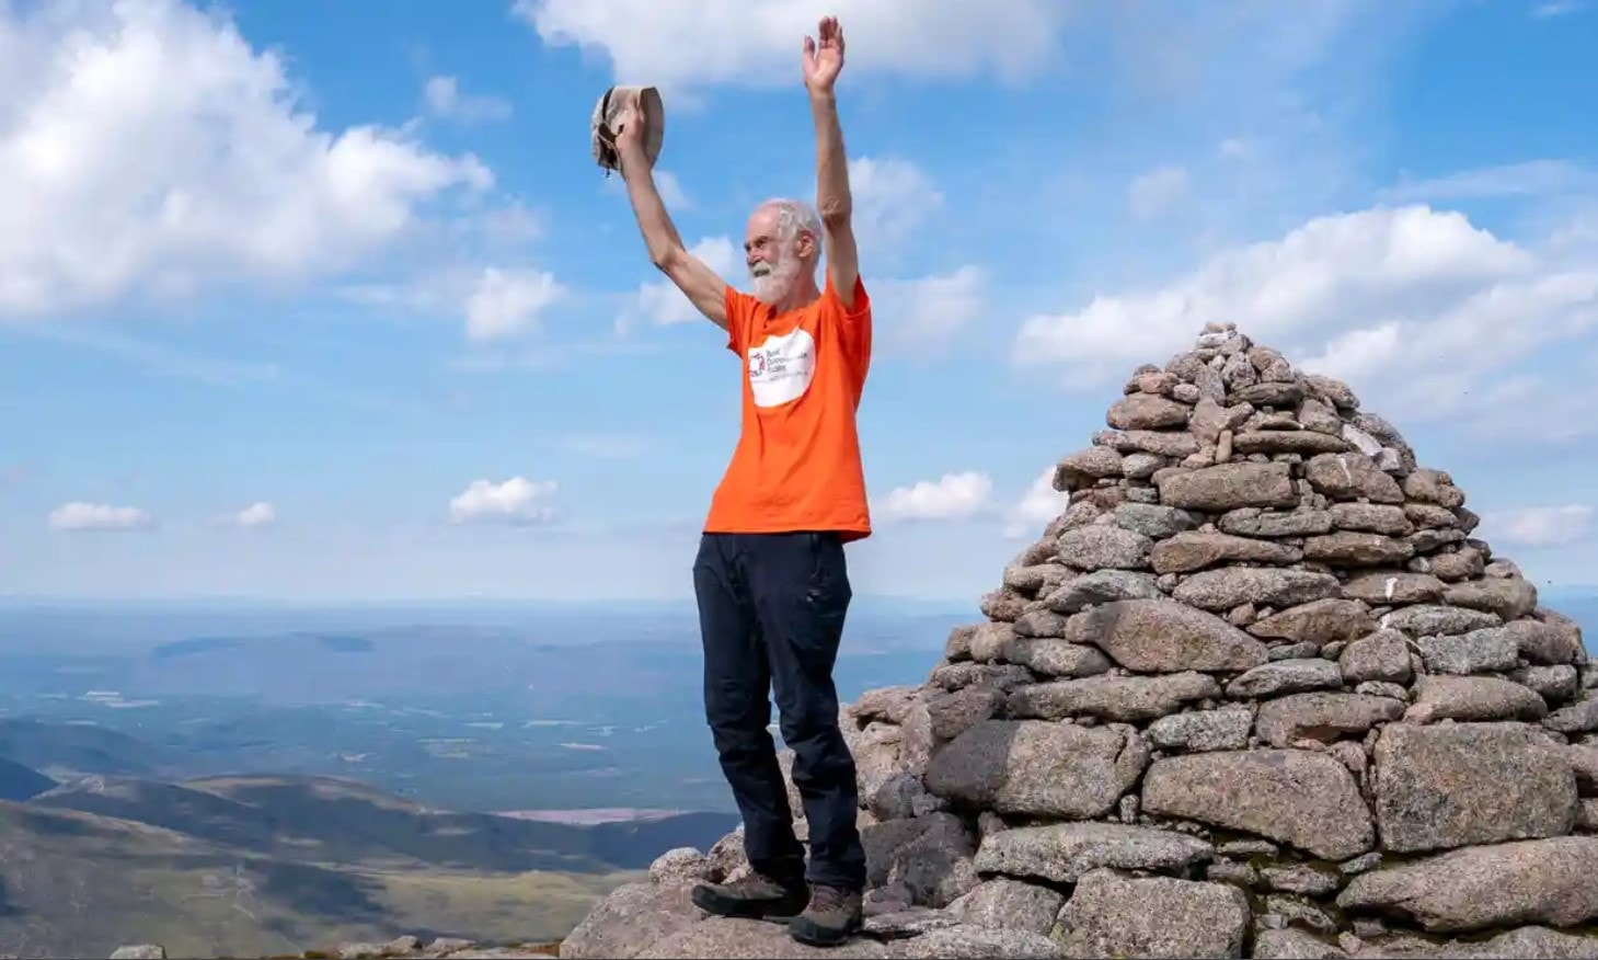
[[[315,776],[163,782],[134,738],[0,722],[0,954],[272,955],[400,933],[558,939],[673,846],[737,818],[593,826],[431,810]],[[58,779],[34,765],[58,771]]]

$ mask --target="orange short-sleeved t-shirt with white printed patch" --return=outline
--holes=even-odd
[[[855,411],[871,368],[871,299],[821,296],[777,314],[727,286],[727,349],[745,360],[743,426],[706,533],[836,530],[871,536]]]

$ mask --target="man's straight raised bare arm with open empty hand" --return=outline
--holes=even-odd
[[[815,208],[826,235],[826,277],[844,307],[852,309],[860,248],[855,246],[855,202],[849,194],[844,130],[837,123],[837,98],[833,93],[844,69],[844,27],[836,16],[828,16],[821,18],[818,34],[818,38],[804,38],[804,85],[815,118]]]

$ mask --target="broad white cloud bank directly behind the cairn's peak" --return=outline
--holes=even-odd
[[[1505,371],[1598,325],[1598,267],[1427,206],[1322,216],[1165,288],[1029,317],[1013,360],[1090,389],[1191,349],[1211,320],[1235,322],[1302,368],[1341,376],[1409,418],[1475,408],[1502,419]]]

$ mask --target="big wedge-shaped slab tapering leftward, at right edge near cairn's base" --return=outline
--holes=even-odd
[[[1518,840],[1360,874],[1338,894],[1344,910],[1408,917],[1438,933],[1598,917],[1598,837]]]

